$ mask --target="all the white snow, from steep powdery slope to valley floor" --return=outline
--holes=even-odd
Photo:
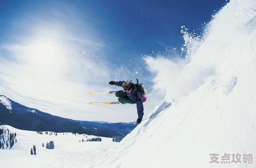
[[[219,153],[220,162],[224,153],[256,153],[256,0],[228,3],[206,25],[203,41],[190,35],[184,36],[185,63],[147,58],[150,70],[159,72],[155,87],[166,91],[166,102],[151,114],[173,105],[120,143],[78,143],[82,136],[7,126],[19,133],[19,144],[1,150],[0,162],[6,168],[255,168],[254,162],[209,164],[209,154]],[[50,140],[56,149],[41,148]],[[38,154],[30,156],[34,144]]]

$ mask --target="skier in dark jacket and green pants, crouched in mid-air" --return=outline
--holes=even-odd
[[[140,124],[144,115],[144,108],[141,100],[141,93],[137,86],[130,81],[110,81],[109,84],[122,86],[124,88],[124,90],[119,90],[116,92],[116,97],[118,97],[118,101],[120,103],[137,104],[137,124]]]

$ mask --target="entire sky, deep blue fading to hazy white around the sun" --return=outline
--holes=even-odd
[[[179,55],[184,43],[181,26],[200,33],[202,24],[226,3],[0,0],[0,91],[25,105],[62,117],[114,121],[114,116],[121,114],[95,115],[87,109],[122,111],[122,107],[103,110],[84,104],[116,98],[87,97],[87,92],[117,90],[108,85],[111,80],[139,78],[152,86],[155,74],[147,69],[141,56],[154,57],[152,53],[158,51],[166,55],[166,48],[177,48],[175,53],[168,52],[168,57]],[[85,112],[71,115],[70,109]],[[136,107],[129,109],[136,114]],[[149,113],[152,109],[147,110]],[[129,113],[115,121],[135,119]]]

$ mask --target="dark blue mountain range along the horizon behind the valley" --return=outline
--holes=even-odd
[[[0,123],[28,131],[81,132],[100,136],[127,135],[135,123],[76,121],[28,108],[0,95]]]

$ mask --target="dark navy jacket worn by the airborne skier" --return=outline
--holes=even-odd
[[[119,81],[119,82],[115,81],[115,85],[122,87],[122,84],[124,82],[125,81]],[[134,87],[134,89],[132,90],[131,93],[127,93],[127,96],[128,96],[129,99],[131,99],[132,101],[136,102],[138,118],[142,119],[143,115],[144,115],[144,107],[143,107],[143,102],[141,100],[141,93],[137,92],[137,94],[135,95],[134,93],[136,92],[136,90],[138,88],[136,87],[136,85],[134,83],[131,83],[131,85]],[[140,100],[137,100],[137,99],[140,99]]]

